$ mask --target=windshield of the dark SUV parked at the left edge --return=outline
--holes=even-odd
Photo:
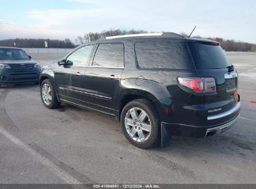
[[[0,48],[0,60],[29,60],[29,56],[21,49]]]

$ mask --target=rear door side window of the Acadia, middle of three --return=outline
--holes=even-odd
[[[123,44],[100,44],[93,67],[123,67]]]

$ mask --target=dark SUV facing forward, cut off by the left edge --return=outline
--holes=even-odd
[[[39,83],[40,65],[21,48],[0,47],[0,86],[7,83]]]

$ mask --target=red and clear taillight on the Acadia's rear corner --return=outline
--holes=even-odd
[[[214,93],[216,83],[214,78],[178,78],[179,85],[195,93]]]

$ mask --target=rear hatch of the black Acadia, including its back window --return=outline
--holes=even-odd
[[[214,78],[216,82],[216,91],[214,93],[205,93],[204,105],[207,108],[207,115],[211,117],[214,114],[225,113],[235,108],[239,101],[237,72],[219,43],[191,40],[187,42],[187,45],[198,76]],[[220,120],[231,119],[230,116],[225,117]],[[218,120],[211,122],[212,124],[217,124]]]

